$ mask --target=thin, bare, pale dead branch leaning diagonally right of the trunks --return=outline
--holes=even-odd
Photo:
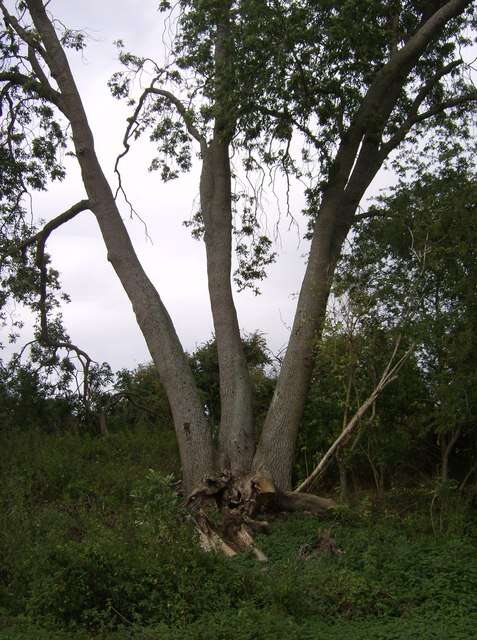
[[[294,493],[299,493],[301,491],[306,491],[307,489],[309,489],[314,484],[314,482],[316,482],[317,478],[320,475],[322,475],[322,473],[324,472],[326,467],[329,465],[329,463],[333,459],[333,457],[336,454],[336,452],[338,451],[338,449],[342,448],[346,444],[346,442],[351,437],[351,434],[359,426],[361,418],[365,415],[365,413],[368,411],[368,409],[370,409],[374,405],[374,403],[376,402],[377,398],[381,395],[381,393],[384,391],[384,389],[391,382],[396,380],[397,375],[399,373],[399,370],[401,369],[401,367],[403,366],[403,364],[405,363],[407,358],[410,356],[410,354],[412,353],[412,350],[414,348],[414,345],[411,345],[409,347],[409,349],[396,362],[394,362],[400,342],[401,342],[401,337],[399,336],[398,339],[396,340],[396,344],[394,346],[394,350],[393,350],[393,353],[391,355],[391,358],[389,359],[389,362],[386,365],[386,367],[385,367],[385,369],[383,371],[383,374],[381,376],[381,379],[379,380],[379,382],[376,385],[376,387],[373,389],[373,391],[368,396],[368,398],[363,402],[363,404],[359,407],[359,409],[353,415],[353,417],[348,422],[348,424],[345,426],[345,428],[343,429],[343,431],[341,432],[339,437],[334,441],[334,443],[331,445],[331,447],[328,449],[328,451],[325,453],[325,455],[321,458],[320,462],[313,469],[313,471],[310,473],[308,478],[306,478],[306,480],[304,480],[295,489]]]

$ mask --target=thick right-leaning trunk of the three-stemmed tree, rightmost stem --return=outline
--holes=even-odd
[[[267,469],[279,489],[291,486],[292,463],[305,399],[321,337],[331,283],[358,204],[389,153],[409,128],[383,141],[383,132],[408,75],[428,44],[469,0],[438,9],[377,71],[361,106],[341,136],[317,215],[287,352],[268,411],[254,469]],[[427,95],[418,94],[417,109]],[[419,99],[421,102],[419,102]]]

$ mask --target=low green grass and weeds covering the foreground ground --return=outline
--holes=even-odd
[[[417,491],[418,509],[403,492],[278,518],[262,564],[197,549],[168,433],[9,433],[0,450],[0,640],[477,638],[476,519],[456,500],[438,527]],[[303,560],[330,527],[343,553]]]

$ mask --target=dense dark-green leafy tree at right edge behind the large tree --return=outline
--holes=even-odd
[[[473,166],[451,154],[437,174],[419,173],[379,199],[340,268],[357,306],[416,343],[429,396],[421,424],[438,438],[444,480],[456,444],[463,471],[477,435],[476,203]]]

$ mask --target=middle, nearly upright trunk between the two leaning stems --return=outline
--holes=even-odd
[[[255,451],[252,387],[232,294],[232,189],[229,147],[235,118],[229,105],[233,51],[230,3],[218,18],[214,52],[216,96],[212,141],[203,148],[200,181],[207,276],[220,371],[219,460],[239,476],[250,470]]]

